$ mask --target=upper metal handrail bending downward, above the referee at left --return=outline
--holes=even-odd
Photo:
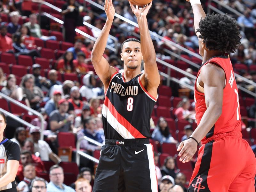
[[[41,140],[44,140],[44,134],[43,134],[43,131],[44,131],[44,117],[41,113],[39,113],[38,111],[32,109],[32,108],[29,108],[27,105],[24,105],[23,103],[20,103],[20,102],[17,102],[17,100],[14,100],[12,99],[11,97],[5,95],[4,93],[1,93],[0,92],[0,96],[3,97],[5,100],[8,100],[12,103],[14,103],[15,105],[18,105],[19,107],[35,114],[36,116],[40,117],[41,118],[41,132],[40,132],[40,139]]]

